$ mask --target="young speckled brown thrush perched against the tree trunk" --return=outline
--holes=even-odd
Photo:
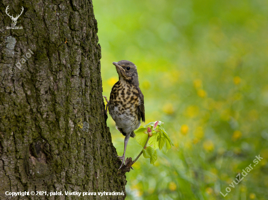
[[[105,97],[106,114],[115,121],[116,129],[125,136],[123,156],[119,169],[124,165],[127,144],[130,137],[135,137],[134,130],[139,128],[142,120],[145,122],[144,96],[139,88],[137,67],[134,63],[121,60],[113,62],[119,81],[112,87],[110,100]]]

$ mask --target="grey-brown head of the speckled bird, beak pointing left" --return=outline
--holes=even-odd
[[[119,80],[121,79],[139,85],[137,67],[134,63],[127,60],[121,60],[118,63],[114,62],[113,64],[116,67]]]

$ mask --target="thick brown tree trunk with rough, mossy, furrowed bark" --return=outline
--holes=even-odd
[[[4,2],[0,199],[125,199],[126,177],[118,171],[106,125],[92,1]],[[3,9],[8,5],[10,16],[23,6],[16,25],[23,29],[7,29],[12,20]],[[20,191],[35,195],[6,195]],[[46,195],[37,196],[38,191]],[[50,196],[56,191],[62,195]],[[67,196],[65,191],[82,193]],[[81,197],[88,191],[96,196]],[[97,194],[103,191],[124,196]]]

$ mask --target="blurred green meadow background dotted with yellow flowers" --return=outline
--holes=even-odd
[[[126,200],[268,200],[268,0],[93,5],[103,95],[118,80],[112,62],[132,61],[146,123],[163,121],[178,149],[157,150],[154,166],[141,156],[127,173]],[[124,136],[110,116],[107,123],[121,155]],[[126,156],[141,149],[131,138]]]

